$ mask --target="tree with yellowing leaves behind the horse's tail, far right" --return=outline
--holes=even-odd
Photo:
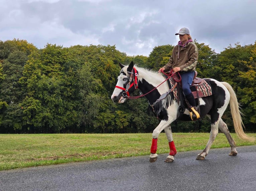
[[[242,112],[246,114],[243,119],[245,126],[247,126],[250,121],[254,121],[254,49],[255,45],[241,46],[239,43],[236,43],[235,47],[230,45],[217,55],[215,66],[212,71],[217,80],[228,82],[233,87],[234,91],[237,93],[238,102],[243,103],[241,107]],[[249,104],[248,98],[250,98],[249,100],[252,101],[252,104]],[[233,124],[229,109],[225,111],[224,117],[226,117],[226,123]],[[233,127],[230,126],[230,129],[233,129]]]

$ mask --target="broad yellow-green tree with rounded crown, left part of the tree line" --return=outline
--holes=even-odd
[[[76,83],[72,85],[72,76],[76,74],[69,62],[71,55],[67,48],[47,44],[41,54],[31,55],[24,66],[20,79],[28,93],[22,103],[24,119],[39,132],[56,133],[77,123],[74,108],[79,99],[73,96]]]

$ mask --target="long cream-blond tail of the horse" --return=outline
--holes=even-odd
[[[236,93],[234,92],[234,90],[230,86],[230,84],[228,84],[226,82],[222,82],[222,84],[228,89],[228,91],[230,93],[230,109],[231,109],[231,115],[233,118],[233,123],[234,123],[234,128],[235,128],[236,134],[241,139],[244,139],[247,141],[254,141],[255,140],[254,137],[247,136],[244,133],[244,130],[243,130],[244,124],[243,124],[242,117],[241,117],[242,113],[239,110],[239,104],[237,102]]]

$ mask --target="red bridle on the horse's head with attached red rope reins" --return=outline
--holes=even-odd
[[[139,95],[139,96],[130,96],[130,94],[129,94],[129,89],[131,88],[131,87],[133,87],[134,86],[134,88],[135,88],[135,90],[138,88],[138,80],[137,80],[137,76],[138,76],[138,72],[137,72],[137,70],[133,67],[133,72],[128,72],[127,71],[127,73],[129,73],[129,74],[131,74],[131,76],[130,76],[130,80],[129,80],[129,83],[126,85],[126,89],[125,88],[123,88],[123,87],[120,87],[120,86],[116,86],[116,88],[119,88],[119,89],[121,89],[121,90],[124,90],[125,92],[123,92],[122,93],[122,95],[123,95],[123,97],[126,97],[127,99],[137,99],[137,98],[140,98],[140,97],[143,97],[143,96],[145,96],[145,95],[147,95],[147,94],[149,94],[149,93],[151,93],[151,92],[153,92],[155,89],[157,89],[160,85],[162,85],[164,82],[166,82],[167,80],[169,80],[175,73],[173,73],[173,70],[171,69],[171,71],[170,71],[170,73],[169,74],[166,74],[166,73],[164,73],[163,71],[161,71],[164,75],[166,75],[166,76],[168,76],[168,78],[166,78],[161,84],[159,84],[158,86],[156,86],[154,89],[152,89],[151,91],[149,91],[148,93],[146,93],[146,94],[143,94],[143,95]],[[176,81],[175,79],[175,81],[176,81],[176,83],[178,83],[178,82],[180,82],[181,81],[181,76],[180,76],[180,74],[177,72],[177,74],[179,75],[179,80],[178,81]],[[133,81],[133,82],[132,82]],[[132,82],[132,83],[131,83]],[[176,86],[175,86],[176,87]],[[174,87],[174,88],[175,88]],[[174,89],[174,88],[172,88],[171,89],[171,91]]]

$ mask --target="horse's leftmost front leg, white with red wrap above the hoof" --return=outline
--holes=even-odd
[[[157,160],[157,137],[158,135],[162,132],[162,130],[164,128],[166,128],[169,124],[169,121],[167,120],[161,120],[159,125],[154,129],[153,131],[153,138],[152,138],[152,144],[151,144],[151,148],[150,148],[150,158],[149,158],[149,162],[155,162]]]

